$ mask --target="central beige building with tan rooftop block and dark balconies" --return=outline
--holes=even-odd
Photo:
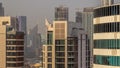
[[[77,68],[79,23],[53,21],[47,26],[47,44],[43,45],[43,68]]]

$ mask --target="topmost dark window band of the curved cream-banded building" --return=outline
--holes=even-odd
[[[94,10],[94,17],[111,16],[120,14],[120,5],[102,7]]]

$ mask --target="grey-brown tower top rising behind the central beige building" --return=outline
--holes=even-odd
[[[68,8],[64,6],[55,8],[55,20],[56,21],[68,21]]]

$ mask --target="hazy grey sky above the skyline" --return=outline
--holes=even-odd
[[[60,5],[69,7],[70,20],[74,21],[75,11],[79,8],[98,6],[100,0],[0,0],[5,8],[5,15],[27,16],[28,29],[39,25],[43,31],[44,19],[54,19],[54,8]]]

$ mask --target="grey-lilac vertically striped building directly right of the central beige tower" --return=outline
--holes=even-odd
[[[90,68],[90,44],[88,35],[83,28],[78,33],[78,68]]]

